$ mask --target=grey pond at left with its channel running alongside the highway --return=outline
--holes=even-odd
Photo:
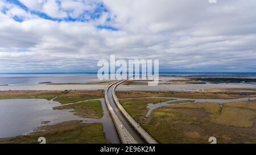
[[[52,125],[69,120],[83,120],[85,123],[102,123],[106,138],[111,143],[119,143],[105,100],[100,100],[104,111],[101,119],[80,118],[69,112],[72,110],[53,110],[52,108],[60,106],[60,103],[45,99],[0,100],[0,138],[33,132],[34,129],[45,125],[41,123],[43,121],[51,121],[47,125]]]

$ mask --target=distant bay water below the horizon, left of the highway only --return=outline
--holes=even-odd
[[[1,90],[97,90],[105,89],[102,85],[46,85],[40,82],[52,83],[90,83],[103,82],[97,74],[0,74]]]

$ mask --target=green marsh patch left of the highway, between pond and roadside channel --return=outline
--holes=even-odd
[[[54,107],[54,110],[73,109],[75,115],[83,118],[102,118],[103,110],[100,100],[90,100],[87,102],[69,104],[65,106]]]

